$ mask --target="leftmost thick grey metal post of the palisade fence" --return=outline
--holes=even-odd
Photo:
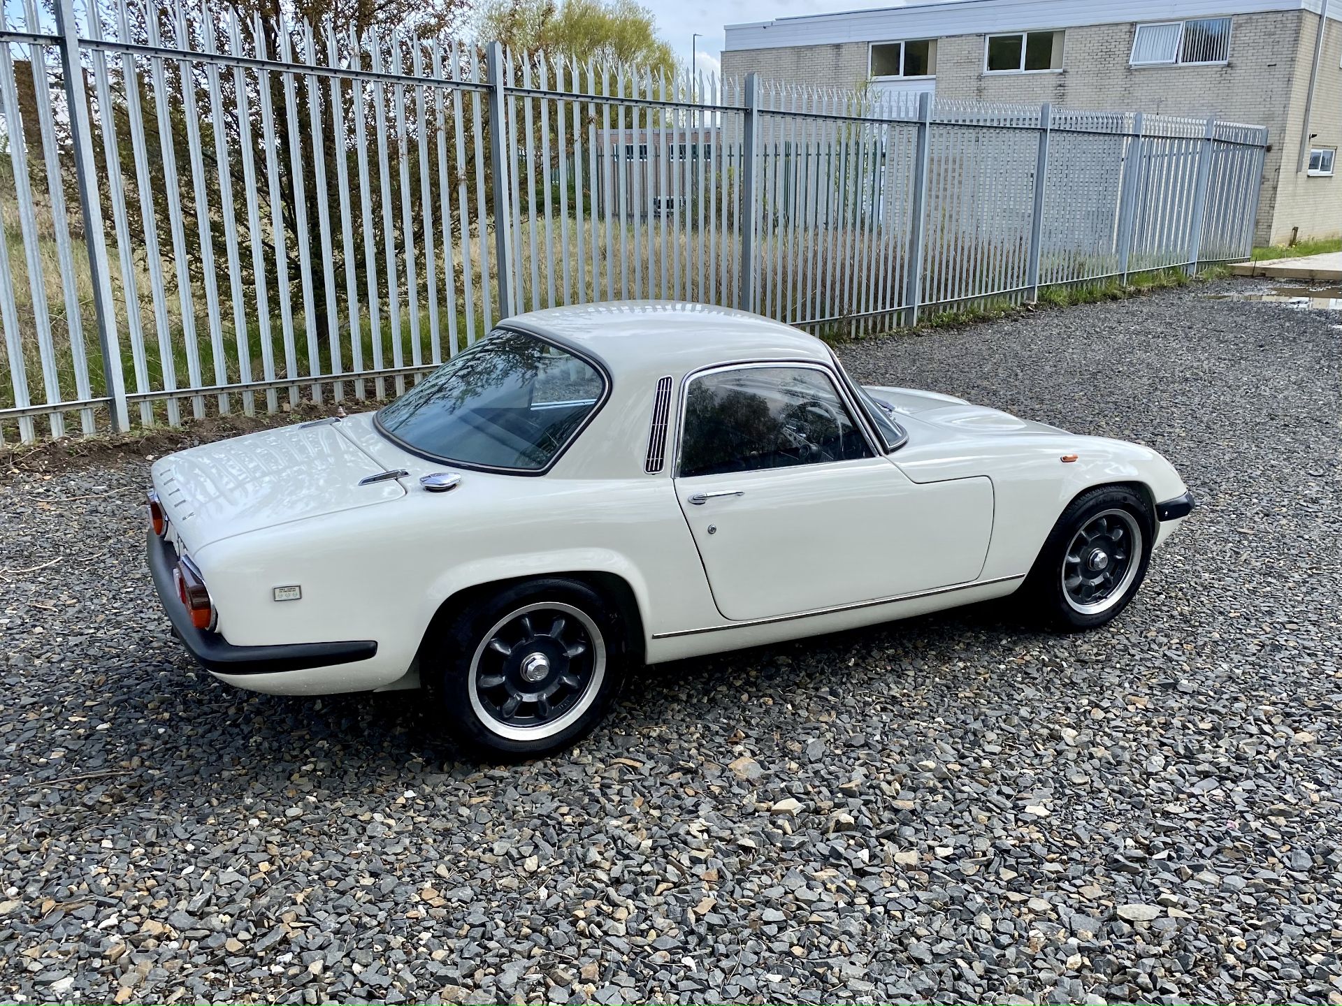
[[[98,200],[98,165],[93,154],[93,127],[89,122],[89,99],[85,94],[83,64],[79,62],[79,25],[74,0],[56,0],[56,46],[60,50],[60,72],[64,78],[66,105],[70,111],[70,142],[75,152],[75,178],[79,186],[79,212],[83,216],[85,247],[89,251],[89,280],[93,286],[94,315],[98,321],[98,351],[102,373],[111,398],[111,432],[130,428],[126,408],[126,377],[121,368],[121,339],[117,337],[117,306],[111,294],[107,244],[103,239],[102,203]],[[90,17],[97,17],[95,12]]]

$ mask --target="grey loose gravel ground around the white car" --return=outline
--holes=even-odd
[[[843,349],[1174,460],[1117,624],[663,665],[507,770],[193,669],[144,459],[11,475],[0,999],[1342,1002],[1342,317],[1205,292]]]

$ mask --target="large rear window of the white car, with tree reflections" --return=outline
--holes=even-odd
[[[511,471],[548,468],[605,394],[601,372],[554,343],[495,329],[377,413],[415,453]]]

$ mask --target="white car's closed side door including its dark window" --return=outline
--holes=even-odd
[[[992,533],[984,478],[917,484],[874,449],[832,373],[749,364],[684,384],[675,487],[734,621],[964,583]]]

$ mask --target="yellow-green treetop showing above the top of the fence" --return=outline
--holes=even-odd
[[[479,35],[514,54],[636,66],[654,78],[675,71],[675,52],[636,0],[486,0]]]

